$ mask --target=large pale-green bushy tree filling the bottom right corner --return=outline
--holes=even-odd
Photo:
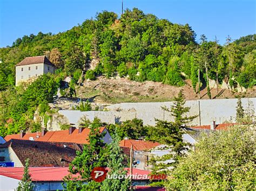
[[[203,135],[169,176],[169,190],[255,190],[255,129],[235,126]]]

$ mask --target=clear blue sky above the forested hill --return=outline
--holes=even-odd
[[[217,36],[220,44],[228,35],[238,39],[256,31],[255,0],[124,0],[125,9],[134,7],[172,23],[188,23],[197,39]],[[69,30],[102,10],[120,15],[122,0],[0,0],[0,47],[39,31]]]

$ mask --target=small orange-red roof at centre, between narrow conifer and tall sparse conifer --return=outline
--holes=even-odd
[[[146,140],[134,140],[134,139],[124,139],[119,143],[120,146],[129,147],[133,146],[134,151],[147,151],[151,148],[159,146],[160,143],[150,142]]]

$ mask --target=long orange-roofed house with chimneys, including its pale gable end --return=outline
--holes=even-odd
[[[10,139],[22,139],[22,140],[36,140],[38,142],[64,142],[64,143],[77,143],[77,144],[89,144],[90,129],[70,127],[68,130],[60,131],[45,131],[35,133],[22,132],[15,135],[5,136],[5,140]],[[103,140],[104,143],[111,143],[112,139],[106,128],[100,128],[100,133],[105,133]]]

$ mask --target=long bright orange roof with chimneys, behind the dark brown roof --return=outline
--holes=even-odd
[[[100,128],[100,133],[102,133],[104,130],[104,127]],[[26,133],[22,138],[20,138],[20,134],[15,134],[6,135],[4,139],[6,141],[10,139],[30,140],[30,138],[32,137],[33,140],[37,140],[38,142],[64,142],[89,144],[87,138],[89,138],[90,129],[83,128],[82,132],[80,133],[78,133],[78,131],[78,129],[75,129],[71,134],[69,134],[69,130],[48,131],[44,133],[44,136],[42,136],[41,132]]]

